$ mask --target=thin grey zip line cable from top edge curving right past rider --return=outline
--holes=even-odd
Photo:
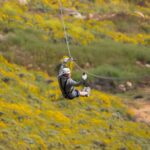
[[[67,28],[66,28],[66,24],[65,24],[65,21],[64,21],[64,15],[63,15],[63,4],[62,4],[62,0],[58,0],[59,2],[59,7],[60,7],[60,17],[61,17],[61,22],[62,22],[62,25],[63,25],[63,30],[64,30],[64,37],[65,37],[65,42],[66,42],[66,45],[67,45],[67,50],[68,50],[68,55],[70,58],[73,58],[72,57],[72,54],[71,54],[71,50],[70,50],[70,44],[69,44],[69,39],[68,39],[68,34],[67,34]],[[93,73],[90,73],[88,72],[87,70],[83,69],[82,67],[80,67],[80,65],[78,65],[74,60],[73,60],[74,64],[76,65],[76,67],[85,72],[86,74],[88,74],[89,76],[92,76],[92,77],[95,77],[95,78],[99,78],[99,79],[105,79],[105,80],[131,80],[131,79],[135,79],[135,77],[133,78],[121,78],[121,77],[106,77],[106,76],[100,76],[100,75],[96,75],[96,74],[93,74]],[[139,77],[137,79],[140,79]]]

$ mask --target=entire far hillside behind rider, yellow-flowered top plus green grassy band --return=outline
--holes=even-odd
[[[1,0],[0,51],[9,61],[55,75],[58,61],[68,55],[58,2]],[[81,67],[136,82],[149,77],[148,0],[62,4],[71,52]]]

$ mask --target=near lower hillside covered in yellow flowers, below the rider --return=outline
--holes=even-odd
[[[148,150],[150,127],[123,101],[96,90],[67,101],[56,78],[0,56],[0,149]]]

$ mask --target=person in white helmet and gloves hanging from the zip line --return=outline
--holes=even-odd
[[[83,73],[82,80],[77,82],[71,78],[71,70],[66,67],[68,61],[72,61],[72,58],[65,58],[60,66],[58,74],[58,82],[63,96],[67,99],[74,99],[79,96],[90,95],[90,88],[85,87],[82,91],[75,89],[75,86],[84,85],[87,79],[87,74]]]

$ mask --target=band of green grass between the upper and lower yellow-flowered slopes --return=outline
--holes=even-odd
[[[62,41],[45,41],[42,38],[44,34],[32,29],[14,30],[7,34],[6,41],[0,43],[0,50],[11,62],[54,75],[60,59],[68,55],[67,48]],[[150,63],[150,51],[146,46],[123,44],[105,38],[85,46],[71,44],[70,48],[81,67],[98,75],[134,79],[149,74],[148,68],[136,64],[136,61]]]

